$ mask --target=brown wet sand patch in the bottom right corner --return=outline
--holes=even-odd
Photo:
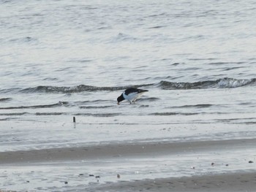
[[[219,192],[255,191],[256,172],[214,174],[193,177],[164,178],[132,182],[111,183],[95,191],[158,191],[158,192]]]

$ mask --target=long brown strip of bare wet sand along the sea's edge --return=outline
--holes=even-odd
[[[177,155],[197,151],[221,151],[254,147],[256,139],[231,139],[196,142],[138,142],[88,147],[63,147],[42,150],[0,152],[1,163],[31,164],[52,161],[78,161],[81,159],[143,158],[159,155]]]

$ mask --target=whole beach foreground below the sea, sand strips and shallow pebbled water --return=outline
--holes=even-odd
[[[255,191],[255,144],[230,139],[1,152],[0,189]]]

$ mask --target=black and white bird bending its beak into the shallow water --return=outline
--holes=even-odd
[[[125,99],[127,99],[130,102],[130,104],[135,103],[135,101],[139,99],[140,96],[142,96],[142,94],[147,91],[148,90],[139,88],[127,88],[127,90],[121,93],[121,96],[118,96],[117,104],[119,104],[121,101],[124,101]]]

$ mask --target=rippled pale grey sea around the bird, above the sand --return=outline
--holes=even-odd
[[[252,0],[0,0],[0,151],[255,138],[255,26]]]

